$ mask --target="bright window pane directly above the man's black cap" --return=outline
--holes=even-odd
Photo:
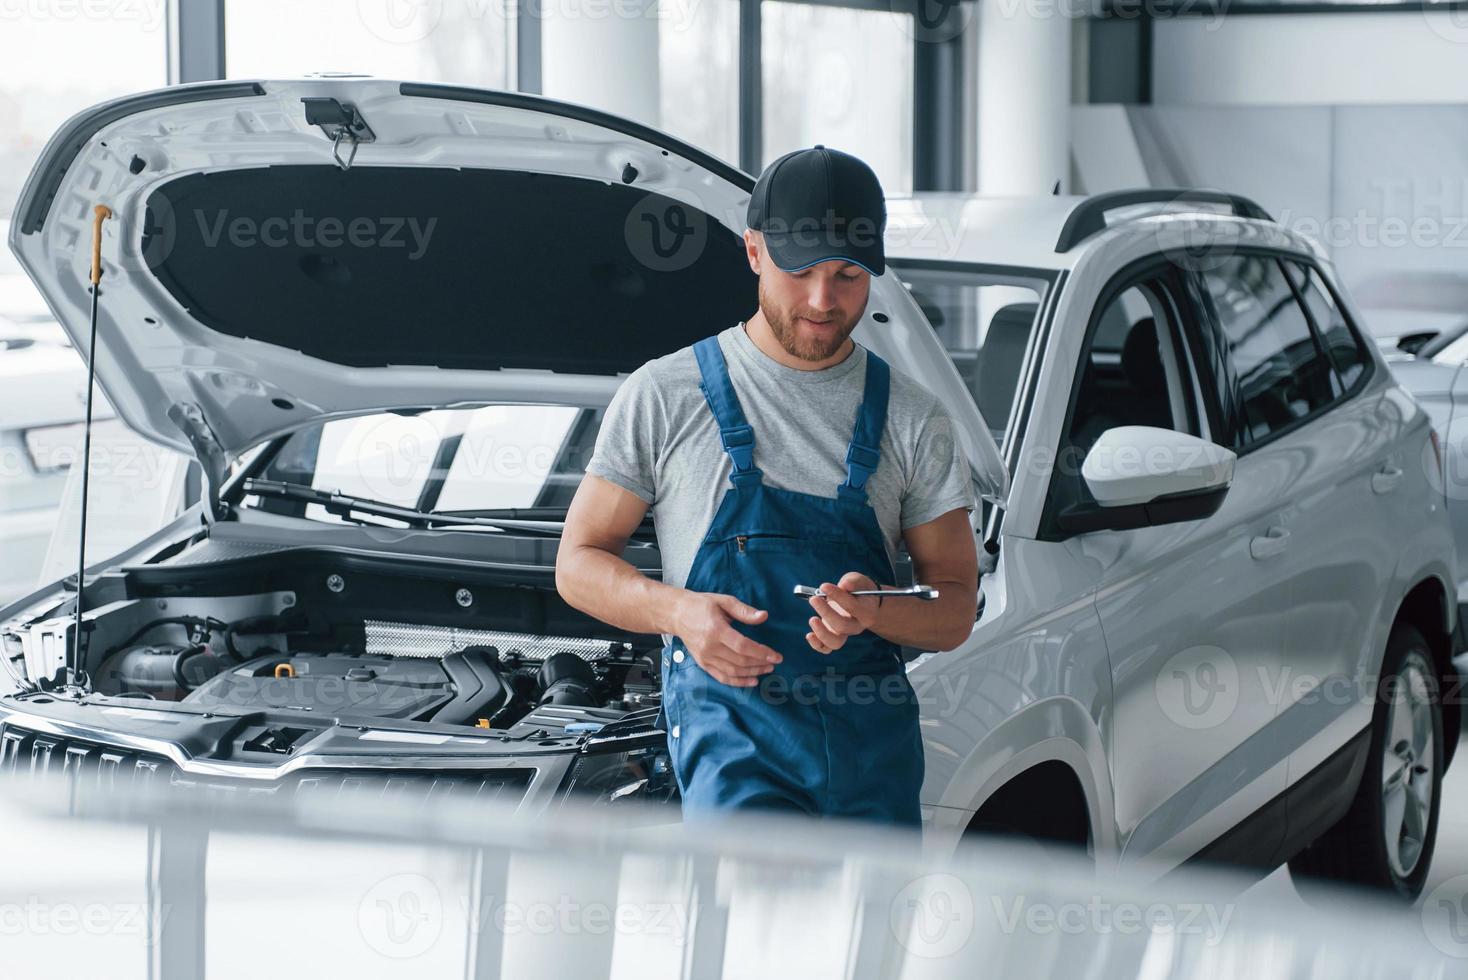
[[[760,16],[765,163],[819,142],[910,192],[912,15],[765,0]]]

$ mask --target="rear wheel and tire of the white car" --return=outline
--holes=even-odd
[[[1301,896],[1329,898],[1329,891],[1312,885],[1333,882],[1412,902],[1437,844],[1443,758],[1443,706],[1431,648],[1417,626],[1398,624],[1387,640],[1367,764],[1351,810],[1289,861]]]

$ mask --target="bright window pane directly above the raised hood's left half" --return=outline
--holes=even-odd
[[[357,72],[514,88],[511,9],[480,0],[226,3],[225,70],[229,78]]]

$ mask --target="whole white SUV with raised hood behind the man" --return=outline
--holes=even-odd
[[[570,609],[555,535],[619,377],[753,310],[752,185],[599,111],[377,79],[72,120],[12,248],[81,343],[113,208],[98,374],[207,486],[91,569],[78,669],[62,585],[0,610],[0,767],[669,800],[659,638]],[[1160,197],[891,202],[856,336],[985,500],[972,638],[909,651],[928,832],[1412,893],[1458,723],[1430,425],[1305,241]],[[627,555],[656,574],[650,534]]]

